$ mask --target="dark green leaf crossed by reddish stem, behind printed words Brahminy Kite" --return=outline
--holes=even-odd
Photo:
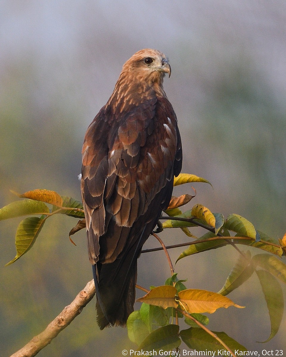
[[[238,350],[236,355],[238,356],[239,351],[247,351],[245,347],[240,345],[233,338],[229,337],[225,332],[216,332],[213,331],[233,352]],[[202,328],[193,328],[190,327],[187,330],[182,330],[180,336],[184,343],[189,348],[197,351],[212,351],[217,355],[217,351],[224,349],[224,347],[218,343],[218,341],[209,335]]]

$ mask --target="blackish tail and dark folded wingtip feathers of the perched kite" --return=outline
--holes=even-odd
[[[93,267],[97,286],[97,322],[100,330],[106,326],[124,327],[128,316],[134,311],[137,259],[161,211],[156,216],[152,216],[153,211],[147,213],[148,216],[140,217],[131,227],[123,254],[120,254],[113,263],[99,260]],[[148,223],[145,223],[146,220]]]

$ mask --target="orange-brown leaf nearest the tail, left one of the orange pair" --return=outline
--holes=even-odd
[[[162,306],[164,309],[167,307],[178,307],[178,303],[175,300],[177,295],[177,289],[172,285],[163,285],[153,288],[143,297],[140,297],[136,301],[145,302],[149,305]]]

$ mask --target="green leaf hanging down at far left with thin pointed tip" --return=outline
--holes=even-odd
[[[6,264],[10,265],[19,259],[23,254],[28,252],[28,250],[35,243],[36,238],[38,237],[45,220],[39,217],[29,217],[25,218],[20,222],[15,238],[15,245],[17,254],[13,260]]]

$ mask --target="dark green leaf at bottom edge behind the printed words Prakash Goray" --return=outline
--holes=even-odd
[[[173,348],[178,348],[180,344],[179,326],[167,325],[151,332],[140,344],[138,351],[171,351]]]

